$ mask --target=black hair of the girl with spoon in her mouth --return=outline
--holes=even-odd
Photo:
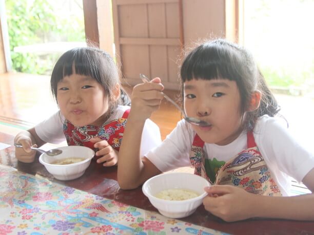
[[[221,78],[237,82],[244,119],[242,123],[247,130],[253,130],[258,117],[265,114],[273,117],[280,111],[251,53],[225,39],[207,41],[192,50],[182,63],[180,77],[182,94],[183,83],[192,79]],[[251,94],[256,90],[262,93],[261,103],[257,110],[248,112]]]

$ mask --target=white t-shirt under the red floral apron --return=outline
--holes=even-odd
[[[129,106],[119,105],[108,121],[121,118]],[[66,140],[63,133],[64,116],[56,112],[48,119],[35,125],[35,131],[39,138],[47,143],[61,143]],[[144,156],[151,148],[161,144],[161,135],[158,125],[147,119],[144,125],[141,142],[141,156]]]

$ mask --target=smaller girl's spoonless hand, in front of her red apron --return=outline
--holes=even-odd
[[[98,148],[96,156],[102,156],[97,159],[97,163],[103,163],[103,166],[113,166],[117,163],[118,152],[108,144],[106,140],[102,140],[99,137],[90,139],[91,142],[95,143],[94,147]]]

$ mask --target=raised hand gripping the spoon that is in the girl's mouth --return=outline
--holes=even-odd
[[[129,118],[132,114],[136,119],[146,120],[155,110],[159,109],[161,100],[164,98],[162,91],[164,86],[159,77],[149,82],[136,85],[132,91],[132,105]]]

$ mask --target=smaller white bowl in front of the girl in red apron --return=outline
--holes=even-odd
[[[95,155],[91,148],[85,146],[64,146],[58,149],[62,150],[62,154],[53,157],[42,154],[39,158],[40,163],[58,180],[73,180],[82,176]],[[56,160],[70,157],[85,158],[85,160],[68,165],[51,164]]]

